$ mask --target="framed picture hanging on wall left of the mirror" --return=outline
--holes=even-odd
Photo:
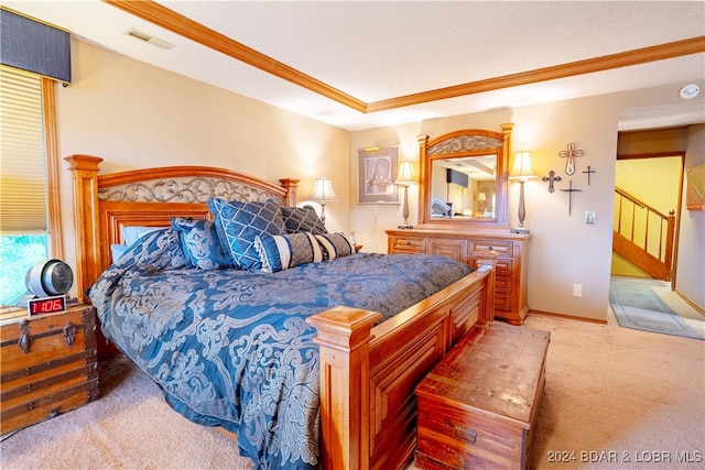
[[[399,204],[399,146],[360,149],[357,165],[359,204]]]

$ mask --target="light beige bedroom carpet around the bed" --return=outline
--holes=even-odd
[[[531,468],[705,467],[704,341],[547,316],[525,324],[552,335]],[[232,441],[171,411],[137,368],[104,375],[97,402],[2,441],[0,467],[252,468]]]

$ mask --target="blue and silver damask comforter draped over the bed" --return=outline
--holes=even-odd
[[[278,273],[186,267],[172,229],[143,237],[89,296],[102,330],[188,419],[223,426],[261,469],[318,466],[318,348],[305,318],[389,318],[467,275],[443,256],[352,254]]]

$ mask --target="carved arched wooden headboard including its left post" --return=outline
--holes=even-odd
[[[162,166],[98,175],[102,159],[65,157],[73,176],[76,286],[88,287],[111,263],[110,245],[122,243],[122,227],[169,227],[173,217],[212,218],[207,201],[264,201],[296,205],[299,179],[281,186],[212,166]]]

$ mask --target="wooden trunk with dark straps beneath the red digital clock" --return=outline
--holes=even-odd
[[[98,398],[93,307],[3,325],[0,347],[0,435]]]

